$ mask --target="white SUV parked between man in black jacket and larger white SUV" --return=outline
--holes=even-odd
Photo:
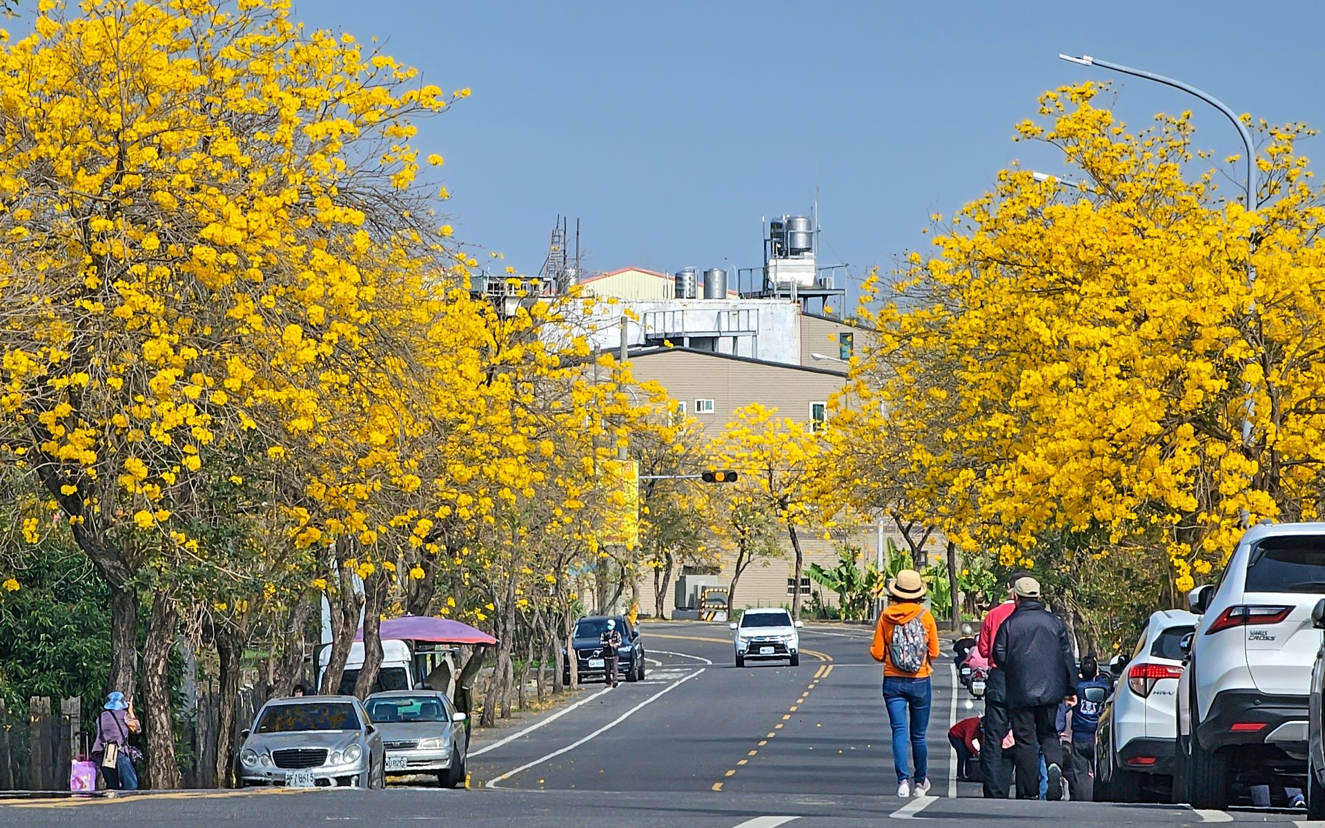
[[[1100,715],[1097,802],[1137,802],[1147,783],[1165,786],[1173,774],[1182,640],[1196,620],[1183,609],[1162,609],[1146,621],[1113,699]]]

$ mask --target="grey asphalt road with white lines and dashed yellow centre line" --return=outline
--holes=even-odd
[[[0,803],[0,825],[144,828],[229,824],[639,825],[790,828],[914,819],[1044,825],[1302,823],[1300,813],[1198,813],[1181,805],[986,802],[957,786],[946,731],[947,662],[935,676],[930,779],[937,796],[898,800],[869,631],[810,627],[800,666],[735,669],[725,625],[644,627],[645,681],[590,688],[572,705],[485,733],[472,790],[168,792],[115,800]],[[1325,824],[1321,824],[1325,828]]]

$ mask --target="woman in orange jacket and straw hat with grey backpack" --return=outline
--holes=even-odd
[[[929,792],[929,705],[930,664],[938,658],[938,627],[921,600],[925,582],[916,570],[902,570],[888,584],[892,601],[880,613],[874,644],[869,654],[884,662],[884,705],[893,729],[893,762],[897,766],[897,795],[924,796]],[[916,762],[912,774],[906,746]]]

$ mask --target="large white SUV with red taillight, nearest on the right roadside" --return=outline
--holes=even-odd
[[[1308,694],[1325,595],[1325,523],[1247,530],[1202,613],[1178,682],[1174,799],[1226,808],[1236,782],[1305,787]],[[1186,786],[1182,784],[1186,782]]]

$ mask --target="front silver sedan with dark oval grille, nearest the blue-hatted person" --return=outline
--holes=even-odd
[[[245,730],[236,779],[292,788],[386,787],[386,747],[352,696],[280,698]]]

